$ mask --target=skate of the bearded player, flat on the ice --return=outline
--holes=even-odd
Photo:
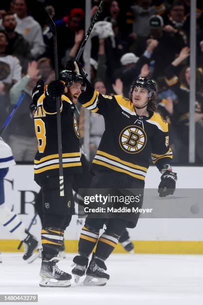
[[[59,257],[53,257],[50,261],[42,261],[39,283],[40,287],[70,287],[72,276],[58,268],[56,263]]]

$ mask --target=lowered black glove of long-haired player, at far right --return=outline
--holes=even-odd
[[[173,195],[176,189],[177,173],[166,170],[161,176],[161,182],[159,184],[159,197],[166,197]]]

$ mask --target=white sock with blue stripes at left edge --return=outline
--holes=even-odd
[[[27,237],[22,221],[5,204],[0,205],[0,223],[19,240],[24,240]]]

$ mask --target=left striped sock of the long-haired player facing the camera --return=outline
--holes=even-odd
[[[80,235],[78,252],[86,254],[86,256],[88,257],[92,253],[95,245],[97,244],[98,238],[99,232],[97,232],[96,229],[84,225]]]

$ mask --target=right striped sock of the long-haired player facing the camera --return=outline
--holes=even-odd
[[[106,260],[117,245],[119,237],[114,233],[104,232],[98,240],[95,256]]]

